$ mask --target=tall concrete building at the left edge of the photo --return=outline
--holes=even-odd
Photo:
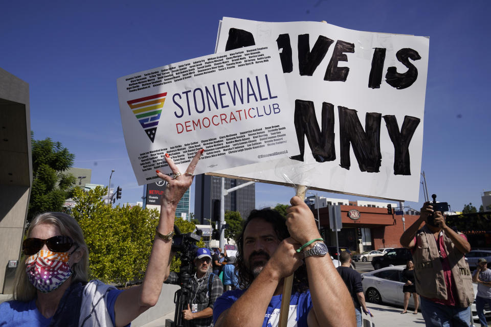
[[[31,184],[29,84],[0,68],[0,293],[11,292],[5,271],[19,258]]]

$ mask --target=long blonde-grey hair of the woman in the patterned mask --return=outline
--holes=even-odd
[[[88,280],[88,249],[83,238],[83,232],[77,221],[70,215],[64,213],[44,213],[37,215],[29,225],[26,235],[29,238],[32,229],[40,224],[49,224],[58,227],[61,235],[69,236],[78,246],[76,251],[82,252],[80,261],[72,265],[72,283],[86,282]],[[36,289],[27,278],[26,256],[20,258],[17,271],[15,272],[13,296],[18,301],[30,301],[36,297]]]

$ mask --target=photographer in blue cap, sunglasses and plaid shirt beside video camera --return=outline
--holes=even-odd
[[[187,300],[187,309],[182,311],[182,317],[186,326],[213,326],[213,306],[215,300],[224,292],[224,286],[220,278],[210,271],[209,249],[197,249],[193,262],[196,273],[189,280],[191,292]],[[178,284],[178,279],[176,275],[171,275],[166,282]]]

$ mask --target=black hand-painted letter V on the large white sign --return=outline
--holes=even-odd
[[[301,34],[298,36],[298,70],[300,76],[312,76],[321,63],[322,59],[326,56],[329,46],[334,42],[333,40],[319,35],[314,48],[310,51],[308,34]]]

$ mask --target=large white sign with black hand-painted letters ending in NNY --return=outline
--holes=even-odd
[[[214,174],[287,184],[276,164],[289,165],[311,189],[417,201],[429,39],[225,17],[216,52],[271,42],[300,155]]]

